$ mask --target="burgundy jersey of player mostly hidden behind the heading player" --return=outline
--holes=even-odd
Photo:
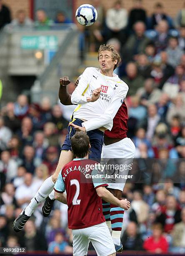
[[[125,101],[122,103],[121,107],[117,111],[115,118],[113,119],[113,127],[111,131],[106,130],[105,135],[110,138],[126,138],[128,127],[128,109]]]

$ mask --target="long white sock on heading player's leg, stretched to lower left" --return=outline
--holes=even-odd
[[[35,197],[32,198],[30,204],[25,209],[25,215],[31,216],[35,209],[45,201],[46,197],[52,192],[55,183],[52,181],[51,176],[47,178],[37,191]]]

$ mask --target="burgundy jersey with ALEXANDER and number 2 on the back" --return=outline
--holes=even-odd
[[[73,159],[66,164],[58,175],[55,191],[67,193],[68,226],[70,229],[87,228],[105,222],[102,213],[102,200],[96,188],[108,186],[103,179],[93,179],[90,175],[97,174],[87,169],[95,161],[89,159]],[[86,177],[87,175],[88,177]],[[98,182],[98,183],[97,183]]]

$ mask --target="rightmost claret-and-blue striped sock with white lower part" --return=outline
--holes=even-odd
[[[112,228],[112,239],[115,244],[120,245],[124,209],[116,205],[110,205],[110,221]]]

